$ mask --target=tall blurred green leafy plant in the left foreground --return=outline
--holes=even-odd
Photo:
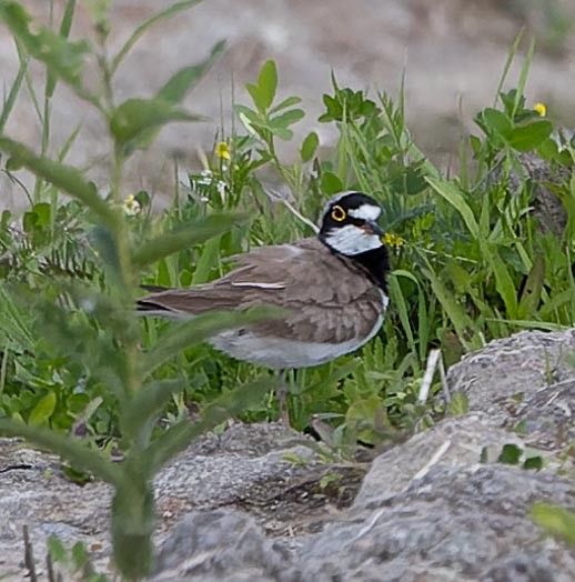
[[[153,475],[190,440],[242,410],[245,402],[262,398],[270,388],[268,380],[263,380],[243,390],[225,393],[203,410],[198,422],[175,423],[155,440],[151,439],[155,419],[170,398],[181,392],[185,385],[182,380],[157,381],[152,378],[154,370],[184,348],[201,342],[218,331],[271,317],[266,310],[234,314],[211,313],[172,328],[163,337],[162,343],[147,353],[139,348],[140,325],[133,310],[138,273],[183,248],[222,235],[244,220],[231,214],[213,214],[189,221],[179,229],[138,245],[127,228],[122,195],[125,161],[135,149],[145,148],[167,122],[199,119],[181,109],[180,102],[222,52],[223,44],[216,44],[208,60],[201,64],[176,72],[151,99],[131,98],[115,104],[111,89],[112,76],[130,46],[145,28],[172,14],[176,9],[195,3],[198,2],[174,4],[175,8],[164,10],[143,23],[113,60],[109,60],[103,50],[109,30],[105,6],[94,4],[97,30],[100,34],[97,60],[103,84],[103,92],[99,94],[85,89],[82,82],[82,69],[87,56],[91,53],[91,47],[87,42],[69,42],[65,39],[69,30],[67,22],[71,20],[74,10],[73,1],[68,3],[61,33],[54,33],[36,22],[19,3],[0,2],[0,18],[21,50],[46,66],[49,80],[47,101],[51,98],[57,81],[68,83],[79,98],[100,111],[114,144],[111,197],[104,200],[78,169],[48,158],[44,148],[40,154],[36,154],[6,134],[0,136],[0,149],[10,154],[12,167],[27,168],[39,181],[73,197],[89,211],[87,219],[93,224],[93,247],[104,271],[105,284],[100,288],[81,282],[58,285],[56,291],[59,297],[50,298],[44,294],[32,303],[38,310],[34,324],[36,332],[41,334],[47,349],[49,345],[53,347],[67,359],[68,365],[80,367],[113,394],[124,460],[121,465],[117,465],[98,450],[46,425],[47,420],[53,417],[58,401],[58,392],[53,385],[48,387],[48,393],[36,404],[27,424],[12,414],[11,419],[0,419],[0,431],[24,436],[46,446],[68,459],[74,466],[113,485],[115,493],[111,529],[114,562],[119,571],[130,580],[141,579],[150,570],[154,521],[151,490]],[[47,128],[48,118],[44,118],[44,131],[48,132]],[[32,233],[32,245],[40,244],[38,240],[34,241],[37,234],[41,235],[40,225],[43,224],[41,217],[44,214],[40,212],[40,208],[49,215],[48,209],[40,204],[34,202],[32,212],[28,214],[28,228],[24,220],[24,231]],[[59,301],[63,298],[65,301]],[[7,312],[4,308],[4,313],[10,315],[7,320],[12,318],[14,324],[19,323],[13,317],[13,310]],[[26,325],[21,328],[26,330]],[[22,345],[19,348],[26,349],[27,341],[29,337],[22,332]],[[30,379],[26,381],[29,382]]]

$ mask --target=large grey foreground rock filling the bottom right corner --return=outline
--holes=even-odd
[[[316,582],[521,580],[516,572],[542,569],[554,581],[574,580],[575,554],[528,519],[539,500],[575,506],[569,481],[552,474],[437,466],[407,491],[352,510],[302,544],[297,560],[304,580]]]

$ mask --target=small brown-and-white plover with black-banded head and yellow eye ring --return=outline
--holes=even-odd
[[[236,360],[280,371],[335,360],[369,342],[384,320],[390,258],[377,224],[381,212],[372,197],[341,192],[325,204],[315,237],[235,255],[236,267],[224,277],[152,292],[138,300],[138,310],[188,319],[215,310],[283,308],[279,319],[220,332],[210,343]],[[285,420],[286,403],[280,409]]]

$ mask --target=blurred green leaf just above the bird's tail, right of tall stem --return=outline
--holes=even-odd
[[[176,230],[160,234],[144,242],[133,257],[138,268],[154,263],[169,254],[182,249],[205,242],[212,237],[219,237],[233,227],[243,224],[245,215],[211,214],[208,218],[181,224]]]

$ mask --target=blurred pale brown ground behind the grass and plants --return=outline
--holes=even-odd
[[[93,38],[85,10],[90,1],[79,2],[72,40]],[[22,3],[48,18],[48,0]],[[170,3],[115,0],[111,49],[117,51],[140,21]],[[56,22],[64,4],[54,0]],[[183,169],[200,165],[201,151],[213,148],[218,129],[231,130],[232,98],[248,102],[244,84],[256,78],[268,59],[278,62],[281,97],[303,98],[307,114],[294,129],[302,137],[315,130],[323,148],[330,147],[333,137],[317,117],[332,70],[340,87],[385,91],[393,98],[405,71],[407,124],[423,152],[447,168],[462,134],[473,130],[473,114],[493,102],[510,48],[522,28],[526,30],[522,50],[531,38],[536,40],[527,106],[544,102],[554,121],[574,127],[574,0],[205,0],[152,28],[117,74],[119,100],[150,97],[172,72],[204,59],[218,40],[228,41],[225,57],[185,101],[189,110],[212,121],[165,128],[152,149],[130,161],[127,190],[145,189],[159,198],[172,192],[174,157]],[[508,84],[516,84],[519,67],[516,62],[512,68]],[[4,88],[17,70],[13,42],[0,28]],[[32,82],[42,94],[39,70],[31,68]],[[90,168],[91,178],[104,185],[104,152],[109,150],[104,128],[60,83],[52,121],[54,147],[62,146],[79,121],[82,131],[69,161]],[[39,147],[41,128],[30,101],[20,100],[7,133]],[[297,143],[293,140],[281,152],[285,161]],[[21,192],[7,180],[0,188],[0,207],[18,207]]]

